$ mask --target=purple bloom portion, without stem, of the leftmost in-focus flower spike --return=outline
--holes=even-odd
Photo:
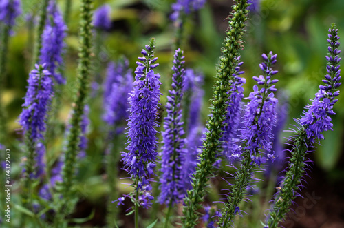
[[[46,65],[35,65],[29,74],[28,91],[23,103],[23,111],[19,116],[19,124],[24,132],[30,132],[30,140],[43,138],[45,119],[52,99],[52,79]]]

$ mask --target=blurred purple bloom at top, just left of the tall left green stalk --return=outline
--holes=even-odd
[[[64,53],[67,26],[56,1],[50,1],[47,7],[47,21],[42,34],[41,63],[47,64],[47,69],[58,84],[65,84],[65,78],[59,72],[63,65],[62,55]]]

